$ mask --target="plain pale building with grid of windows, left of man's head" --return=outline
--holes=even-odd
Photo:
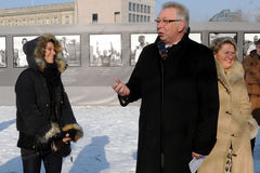
[[[78,24],[150,23],[155,19],[155,0],[75,0]]]

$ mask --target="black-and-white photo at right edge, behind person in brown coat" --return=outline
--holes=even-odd
[[[260,34],[244,34],[243,57],[249,55],[251,51],[256,50],[256,43],[259,39]]]

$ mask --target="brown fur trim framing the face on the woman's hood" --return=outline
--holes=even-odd
[[[67,68],[66,59],[62,55],[62,46],[60,42],[51,34],[42,35],[39,38],[38,45],[35,49],[36,64],[38,65],[39,70],[43,71],[43,69],[46,68],[46,61],[44,61],[46,45],[49,41],[52,41],[54,43],[54,46],[55,46],[54,49],[56,52],[55,63],[57,64],[58,71],[63,72]]]

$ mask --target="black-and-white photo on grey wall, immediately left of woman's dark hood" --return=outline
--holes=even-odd
[[[27,67],[28,63],[26,59],[26,54],[23,51],[23,46],[27,41],[30,41],[38,36],[21,36],[13,37],[13,65],[14,67]]]

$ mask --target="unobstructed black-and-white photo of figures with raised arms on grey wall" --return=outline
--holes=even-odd
[[[121,35],[90,35],[90,66],[121,65]]]

